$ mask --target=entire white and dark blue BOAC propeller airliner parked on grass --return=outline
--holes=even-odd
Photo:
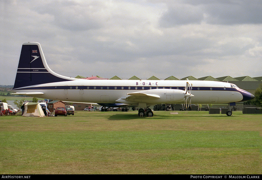
[[[13,94],[102,106],[130,106],[139,116],[153,116],[155,104],[225,104],[247,101],[254,95],[236,85],[219,81],[190,80],[88,80],[66,77],[47,65],[37,42],[24,43]],[[231,115],[229,110],[227,115]]]

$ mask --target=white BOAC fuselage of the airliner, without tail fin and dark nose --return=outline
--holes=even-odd
[[[177,80],[75,80],[45,83],[13,89],[13,92],[42,92],[32,95],[39,98],[72,102],[119,103],[128,93],[157,89],[161,98],[148,104],[184,103],[185,83],[192,83],[193,104],[223,104],[243,100],[241,89],[232,84],[217,81],[177,81]],[[150,90],[152,91],[152,90]],[[180,96],[180,98],[179,98]],[[118,101],[117,101],[118,100]],[[124,103],[124,102],[122,102]],[[138,104],[133,102],[132,104]]]

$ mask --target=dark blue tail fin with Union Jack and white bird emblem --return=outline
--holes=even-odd
[[[23,44],[13,89],[69,80],[75,78],[59,75],[48,67],[39,43]]]

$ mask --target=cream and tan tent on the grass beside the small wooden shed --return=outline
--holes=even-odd
[[[42,116],[45,116],[45,114],[39,103],[25,103],[25,112],[23,116],[42,117]]]

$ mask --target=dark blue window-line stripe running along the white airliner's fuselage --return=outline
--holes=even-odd
[[[17,90],[53,90],[53,89],[89,89],[89,90],[149,90],[149,89],[180,89],[185,87],[177,86],[45,86],[17,88]],[[189,90],[189,89],[188,89]],[[192,91],[237,91],[236,88],[225,87],[193,87]]]

